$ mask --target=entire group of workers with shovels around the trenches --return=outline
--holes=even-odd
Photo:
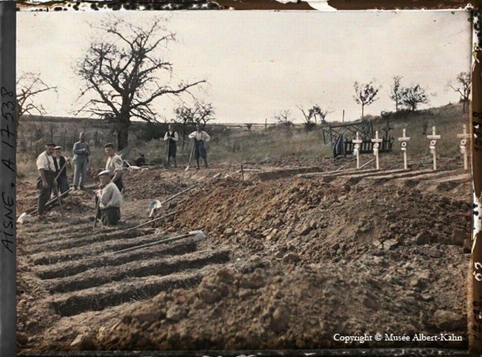
[[[196,125],[196,131],[189,134],[189,138],[193,139],[193,151],[195,154],[197,169],[200,169],[199,159],[202,158],[207,166],[207,152],[204,142],[210,140],[210,136],[202,130],[200,125]],[[45,204],[51,199],[52,193],[60,200],[60,197],[66,197],[71,190],[85,190],[85,182],[87,179],[87,166],[90,161],[90,147],[85,140],[85,133],[80,133],[78,142],[74,143],[72,149],[74,157],[74,183],[69,188],[67,179],[67,167],[72,169],[69,158],[62,155],[62,147],[53,143],[45,144],[43,151],[36,159],[36,168],[39,171],[37,179],[37,188],[39,189],[39,197],[37,203],[37,214],[39,219],[43,219],[45,212]],[[167,164],[173,159],[174,166],[177,167],[176,151],[178,142],[178,133],[174,130],[174,125],[169,125],[169,130],[165,133],[164,141],[167,145]],[[121,204],[123,203],[122,191],[123,184],[123,166],[124,162],[121,155],[116,153],[114,144],[108,143],[104,146],[107,161],[105,170],[98,174],[100,185],[96,191],[96,219],[100,219],[105,226],[116,225],[121,218]],[[136,160],[138,166],[145,164],[144,155]]]

